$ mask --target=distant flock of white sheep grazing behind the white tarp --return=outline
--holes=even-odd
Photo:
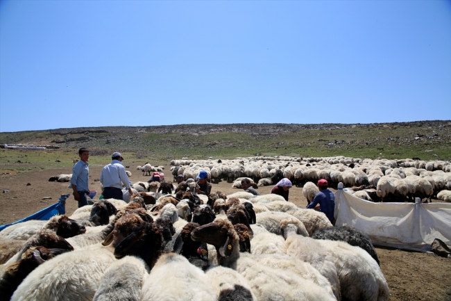
[[[296,158],[288,156],[236,158],[233,160],[173,160],[171,172],[176,177],[195,178],[207,171],[211,181],[230,182],[248,177],[258,186],[274,185],[282,177],[303,186],[309,202],[316,195],[316,181],[326,179],[330,187],[343,182],[349,193],[373,202],[407,202],[415,197],[451,202],[450,161],[412,159],[362,159],[344,156]],[[309,183],[312,182],[312,183]],[[235,182],[233,187],[240,188]]]

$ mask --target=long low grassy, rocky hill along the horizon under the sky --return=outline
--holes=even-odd
[[[1,132],[0,144],[88,147],[167,160],[253,156],[451,159],[451,121],[372,124],[178,124]]]

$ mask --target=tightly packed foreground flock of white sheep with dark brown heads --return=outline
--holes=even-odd
[[[7,227],[0,300],[389,299],[365,234],[279,195],[189,185]]]

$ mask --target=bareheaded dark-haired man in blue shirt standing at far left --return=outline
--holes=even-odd
[[[90,167],[87,163],[90,158],[90,151],[82,147],[78,149],[78,156],[80,161],[75,163],[72,168],[71,187],[74,190],[74,198],[78,201],[78,208],[80,208],[87,205],[86,195],[90,194],[90,189],[87,186],[90,177]]]

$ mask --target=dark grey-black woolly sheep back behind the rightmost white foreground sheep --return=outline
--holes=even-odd
[[[327,227],[322,229],[317,229],[312,234],[312,238],[315,239],[327,239],[330,241],[344,241],[350,245],[355,245],[356,247],[361,247],[363,250],[368,252],[368,254],[373,257],[380,266],[379,258],[377,258],[377,253],[371,243],[371,239],[368,235],[363,232],[348,226],[341,227]]]

